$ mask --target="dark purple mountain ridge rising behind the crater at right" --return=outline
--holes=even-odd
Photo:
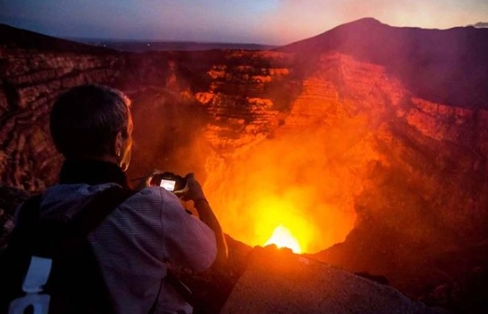
[[[310,69],[321,54],[343,53],[385,66],[426,99],[488,108],[488,29],[392,27],[365,18],[278,50],[296,53]]]

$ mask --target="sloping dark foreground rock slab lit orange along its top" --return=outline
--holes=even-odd
[[[435,313],[385,284],[293,255],[254,249],[221,313]]]

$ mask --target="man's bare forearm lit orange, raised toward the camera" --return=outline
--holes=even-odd
[[[188,191],[186,192],[184,198],[191,199],[193,201],[195,208],[199,213],[200,220],[207,224],[212,231],[214,231],[217,242],[217,257],[213,266],[222,266],[227,260],[227,244],[222,227],[220,226],[216,215],[212,211],[200,183],[194,178],[192,173],[187,175],[186,179],[188,180]]]

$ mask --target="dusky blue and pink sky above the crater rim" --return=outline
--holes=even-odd
[[[488,1],[0,0],[0,23],[62,38],[284,45],[364,17],[448,29],[488,22]]]

